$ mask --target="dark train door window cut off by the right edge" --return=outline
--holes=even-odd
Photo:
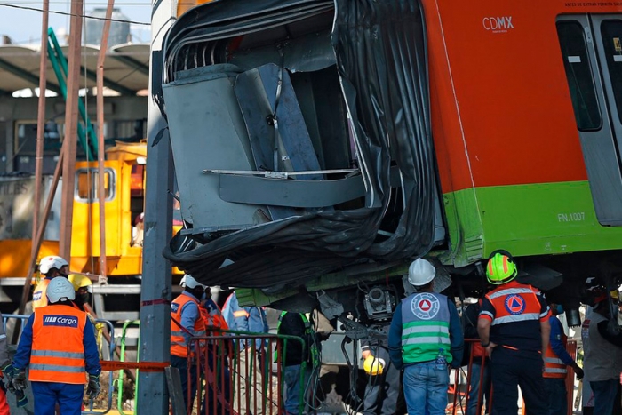
[[[601,36],[618,118],[622,122],[622,20],[604,20]]]

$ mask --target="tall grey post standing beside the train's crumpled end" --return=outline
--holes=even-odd
[[[151,12],[151,65],[149,73],[149,97],[162,84],[163,39],[175,20],[173,0],[154,0]],[[145,195],[145,241],[143,245],[143,278],[141,301],[153,299],[171,300],[171,263],[162,256],[162,247],[172,236],[173,188],[171,140],[163,131],[162,140],[154,147],[158,133],[166,122],[155,100],[148,100],[148,156],[147,194]],[[144,303],[140,308],[141,359],[148,362],[171,361],[171,306],[161,303]],[[168,413],[169,400],[163,372],[141,371],[137,397],[140,413]]]

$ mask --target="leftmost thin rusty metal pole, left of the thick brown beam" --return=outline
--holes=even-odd
[[[41,55],[39,56],[39,103],[36,116],[36,156],[35,156],[35,209],[32,218],[32,238],[36,238],[39,228],[39,214],[41,210],[41,180],[44,170],[44,133],[45,133],[45,84],[47,82],[47,25],[49,18],[50,0],[44,0],[44,12],[41,29]],[[35,244],[32,245],[35,250]]]

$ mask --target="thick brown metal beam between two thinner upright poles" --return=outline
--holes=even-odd
[[[80,43],[82,40],[82,9],[83,0],[71,2],[71,36],[69,39],[69,67],[67,72],[67,100],[65,102],[65,137],[67,141],[62,187],[60,216],[59,254],[71,263],[71,225],[74,215],[74,176],[76,175],[77,125],[79,101],[78,87],[80,81]]]

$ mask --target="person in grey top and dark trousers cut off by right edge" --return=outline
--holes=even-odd
[[[611,307],[608,293],[596,299],[592,313],[586,315],[584,327],[581,331],[585,357],[583,368],[586,371],[586,381],[594,393],[594,414],[619,414],[620,410],[620,373],[622,372],[622,333],[609,330],[611,322],[617,323],[617,315],[611,311],[618,310],[618,306]],[[497,390],[495,389],[495,396]]]

